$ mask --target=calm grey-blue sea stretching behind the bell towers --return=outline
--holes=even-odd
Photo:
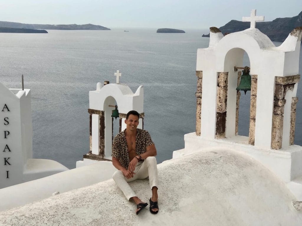
[[[31,89],[33,158],[75,168],[89,151],[88,93],[98,82],[144,86],[144,129],[156,145],[158,163],[184,148],[195,131],[196,52],[207,30],[156,33],[155,29],[47,30],[48,34],[0,33],[0,82]],[[279,46],[281,42],[274,42]],[[302,48],[301,48],[302,52]],[[302,72],[300,52],[299,74]],[[249,66],[244,56],[242,66]],[[294,143],[302,145],[302,82],[298,84]],[[242,93],[239,135],[249,134],[249,92]],[[114,120],[117,133],[118,120]]]

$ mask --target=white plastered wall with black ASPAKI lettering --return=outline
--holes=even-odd
[[[23,181],[24,165],[28,158],[32,158],[32,126],[29,89],[8,89],[0,83],[0,95],[0,146],[3,161],[0,164],[0,188],[3,188]],[[5,104],[9,111],[3,109]],[[7,122],[4,118],[8,125],[5,125]],[[4,131],[9,131],[7,138],[4,138]],[[6,145],[10,152],[5,149]],[[6,165],[4,158],[7,159]],[[9,171],[9,178],[6,178],[6,171]]]

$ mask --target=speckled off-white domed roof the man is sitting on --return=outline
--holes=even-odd
[[[110,179],[0,212],[0,222],[12,226],[302,224],[302,213],[294,209],[295,198],[284,183],[237,152],[199,152],[165,161],[158,169],[157,215],[149,212],[149,206],[136,215],[135,204]],[[149,200],[147,179],[130,186],[143,201]]]

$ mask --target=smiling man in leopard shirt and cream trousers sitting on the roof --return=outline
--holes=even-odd
[[[157,162],[154,157],[156,148],[148,131],[137,128],[139,118],[140,114],[137,111],[129,111],[125,119],[126,129],[113,139],[112,164],[118,169],[113,174],[113,179],[126,198],[132,199],[137,204],[136,214],[139,214],[148,203],[142,202],[127,182],[149,176],[152,190],[152,197],[149,200],[150,212],[156,214],[159,211]]]

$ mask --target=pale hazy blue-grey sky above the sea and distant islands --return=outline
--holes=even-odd
[[[0,0],[0,21],[207,29],[241,20],[251,9],[271,21],[298,15],[302,0]]]

